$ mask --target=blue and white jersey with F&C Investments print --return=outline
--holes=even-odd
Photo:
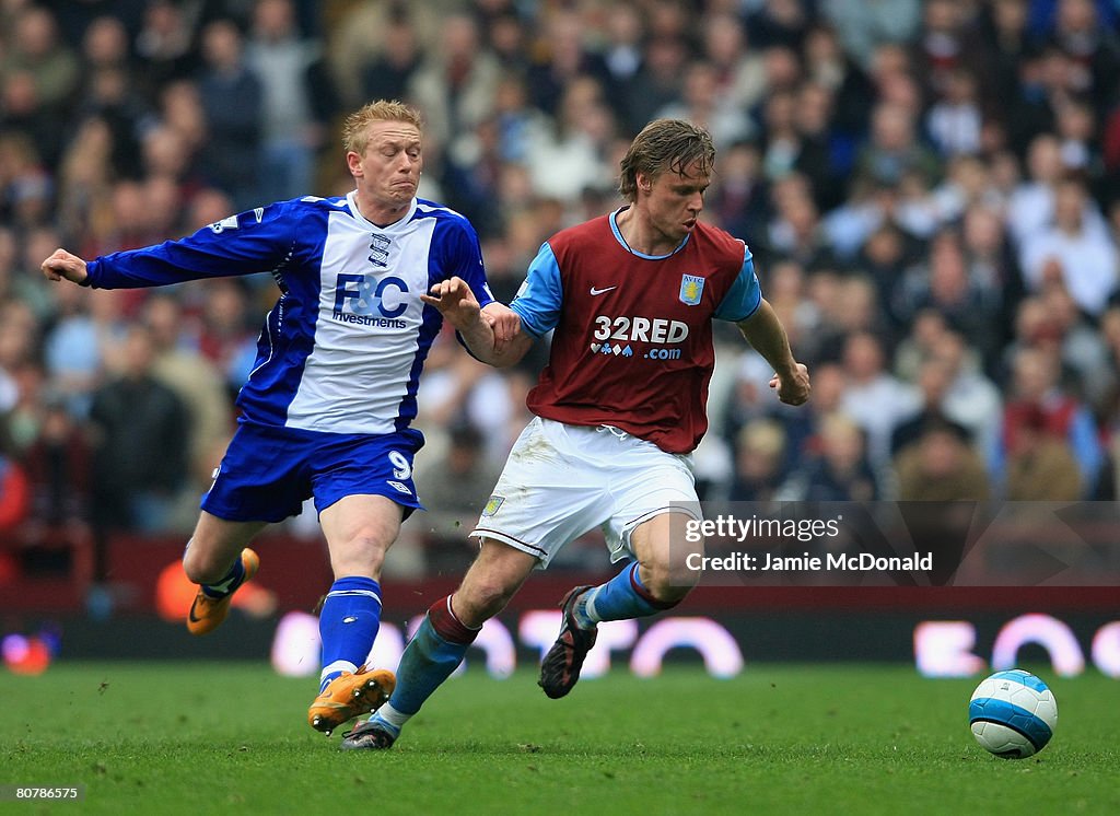
[[[466,218],[413,199],[382,228],[362,216],[354,193],[260,207],[179,241],[104,255],[87,271],[102,289],[271,272],[280,299],[237,405],[250,422],[334,433],[392,433],[416,418],[420,372],[442,325],[421,293],[458,275],[482,306],[494,300]]]

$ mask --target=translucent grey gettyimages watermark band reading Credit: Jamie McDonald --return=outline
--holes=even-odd
[[[1120,585],[1117,503],[706,503],[671,546],[708,585]]]

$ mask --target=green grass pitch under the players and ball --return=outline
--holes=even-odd
[[[1120,685],[1037,669],[1054,740],[996,759],[968,728],[979,678],[904,666],[750,665],[717,681],[622,670],[550,701],[535,675],[447,683],[389,752],[306,724],[315,682],[261,664],[66,664],[0,674],[0,785],[85,785],[11,813],[1120,813]]]

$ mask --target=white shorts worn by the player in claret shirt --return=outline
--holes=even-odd
[[[618,561],[634,528],[663,513],[699,519],[690,457],[666,453],[617,428],[534,418],[510,451],[472,536],[494,538],[540,559],[601,527]]]

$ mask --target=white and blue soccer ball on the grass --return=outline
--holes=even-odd
[[[997,672],[972,692],[969,724],[984,749],[1004,759],[1023,759],[1038,753],[1054,735],[1057,701],[1029,672]]]

